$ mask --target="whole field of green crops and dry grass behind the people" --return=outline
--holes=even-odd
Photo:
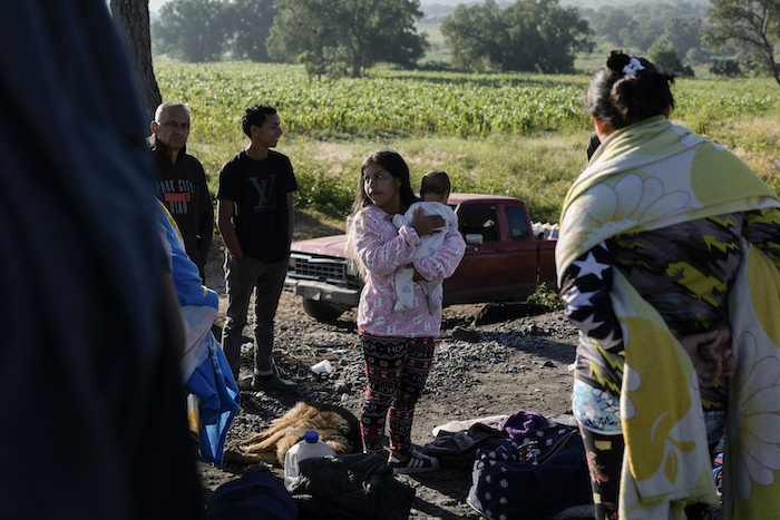
[[[393,148],[412,183],[431,168],[456,190],[526,200],[532,217],[556,222],[585,160],[591,122],[587,76],[457,73],[373,69],[360,79],[310,81],[302,67],[251,62],[159,63],[165,100],[192,112],[188,149],[216,190],[220,166],[246,146],[244,107],[276,107],[300,185],[296,212],[343,223],[360,163]],[[681,79],[673,119],[734,150],[779,186],[780,88],[768,79]]]

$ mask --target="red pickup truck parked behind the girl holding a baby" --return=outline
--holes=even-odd
[[[443,283],[445,305],[518,301],[546,283],[555,287],[555,239],[535,237],[523,200],[500,195],[451,194],[466,254]],[[293,242],[285,285],[303,308],[332,321],[355,307],[362,282],[344,251],[347,235]]]

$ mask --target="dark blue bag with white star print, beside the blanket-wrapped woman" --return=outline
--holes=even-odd
[[[471,478],[466,501],[491,520],[537,520],[593,501],[582,436],[565,425],[478,450]]]

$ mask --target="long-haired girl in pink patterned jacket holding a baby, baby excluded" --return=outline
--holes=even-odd
[[[383,453],[384,423],[390,418],[390,458],[397,473],[435,471],[439,462],[411,449],[415,404],[433,361],[441,326],[441,307],[431,313],[423,284],[415,284],[413,305],[394,314],[396,271],[411,263],[415,281],[448,278],[466,251],[457,227],[445,227],[440,215],[415,215],[396,228],[392,216],[417,202],[409,167],[396,151],[371,154],[362,164],[349,245],[364,279],[358,307],[358,327],[365,360],[368,386],[361,411],[367,453]],[[420,237],[446,233],[435,254],[412,261]]]

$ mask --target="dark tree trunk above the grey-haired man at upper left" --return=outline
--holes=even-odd
[[[148,0],[110,0],[110,6],[114,21],[127,47],[142,109],[146,120],[152,121],[163,98],[152,66]]]

